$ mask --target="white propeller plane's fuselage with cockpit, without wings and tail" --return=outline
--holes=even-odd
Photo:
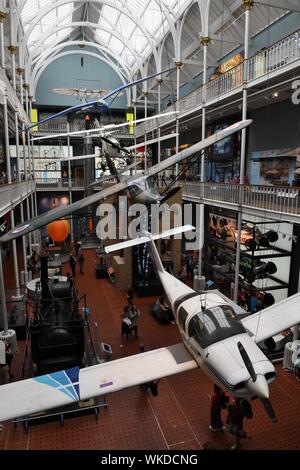
[[[231,305],[213,292],[193,291],[169,273],[159,274],[183,343],[199,367],[235,397],[269,398],[268,385],[276,378],[274,366],[251,339]],[[238,344],[251,360],[257,375],[255,382]]]

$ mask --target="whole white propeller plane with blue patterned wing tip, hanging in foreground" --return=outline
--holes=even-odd
[[[83,369],[73,367],[2,385],[0,421],[70,405],[200,367],[214,383],[233,396],[260,398],[268,415],[276,422],[269,400],[269,384],[276,372],[257,343],[300,322],[300,293],[239,321],[233,308],[235,304],[229,299],[226,301],[210,291],[196,292],[164,269],[154,241],[192,229],[194,227],[188,225],[161,235],[144,232],[139,238],[105,248],[109,253],[148,244],[183,342]]]

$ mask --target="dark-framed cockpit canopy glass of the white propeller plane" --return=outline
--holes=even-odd
[[[237,320],[229,305],[212,307],[197,313],[191,319],[188,327],[189,336],[194,338],[203,349],[213,343],[245,332],[245,328]]]

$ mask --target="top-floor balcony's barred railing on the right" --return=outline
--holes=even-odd
[[[269,74],[291,64],[300,59],[300,30],[278,41],[264,51],[250,57],[243,64],[240,64],[219,77],[211,80],[206,85],[206,103],[209,105],[214,100],[231,91],[237,90],[243,85],[243,77],[251,84],[254,80],[268,76]],[[179,116],[195,111],[202,106],[204,87],[192,91],[188,95],[180,98],[177,103]],[[172,122],[174,117],[168,116],[165,122]],[[142,136],[145,132],[153,131],[158,127],[156,120],[139,124],[136,127],[136,137]]]

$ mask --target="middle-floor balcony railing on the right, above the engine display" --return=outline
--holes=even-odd
[[[183,193],[185,197],[199,198],[203,202],[213,201],[300,216],[300,188],[296,187],[187,183]]]

